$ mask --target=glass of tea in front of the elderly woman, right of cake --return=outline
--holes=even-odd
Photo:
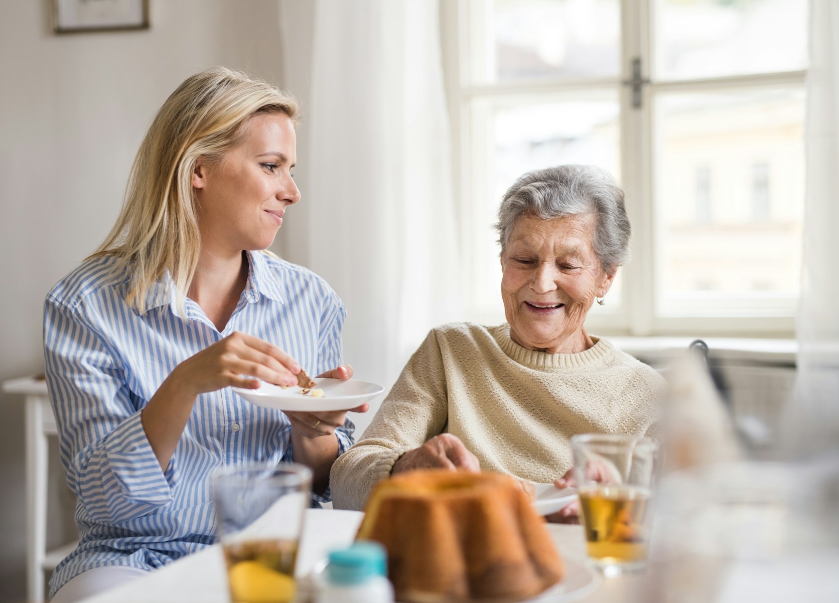
[[[581,434],[571,438],[571,450],[589,559],[606,575],[644,569],[658,444],[650,438]]]

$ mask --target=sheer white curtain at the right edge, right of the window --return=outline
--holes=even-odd
[[[804,278],[788,423],[802,452],[839,447],[839,2],[810,1]],[[801,450],[803,447],[804,450]],[[809,449],[809,450],[808,450]]]

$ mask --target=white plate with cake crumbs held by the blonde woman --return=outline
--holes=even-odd
[[[306,396],[301,392],[300,387],[286,387],[284,389],[279,385],[266,382],[262,382],[258,389],[233,387],[233,391],[248,400],[249,403],[257,406],[305,413],[349,410],[376,398],[378,394],[384,391],[384,387],[378,385],[378,383],[356,381],[354,379],[343,381],[320,377],[315,378],[314,381],[317,383],[316,387],[323,390],[323,398]]]

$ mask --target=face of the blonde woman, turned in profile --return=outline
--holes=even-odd
[[[296,144],[287,115],[258,113],[221,161],[195,164],[202,250],[232,257],[274,242],[285,208],[300,200],[291,175]]]

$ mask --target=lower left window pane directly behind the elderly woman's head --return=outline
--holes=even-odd
[[[555,96],[553,101],[472,101],[472,195],[475,249],[473,304],[484,312],[501,308],[501,268],[492,228],[498,203],[513,181],[531,169],[557,164],[594,164],[620,178],[620,122],[617,91],[589,91]],[[609,304],[597,312],[615,312],[619,283]],[[595,311],[595,310],[592,310]],[[503,314],[502,314],[503,317]]]

